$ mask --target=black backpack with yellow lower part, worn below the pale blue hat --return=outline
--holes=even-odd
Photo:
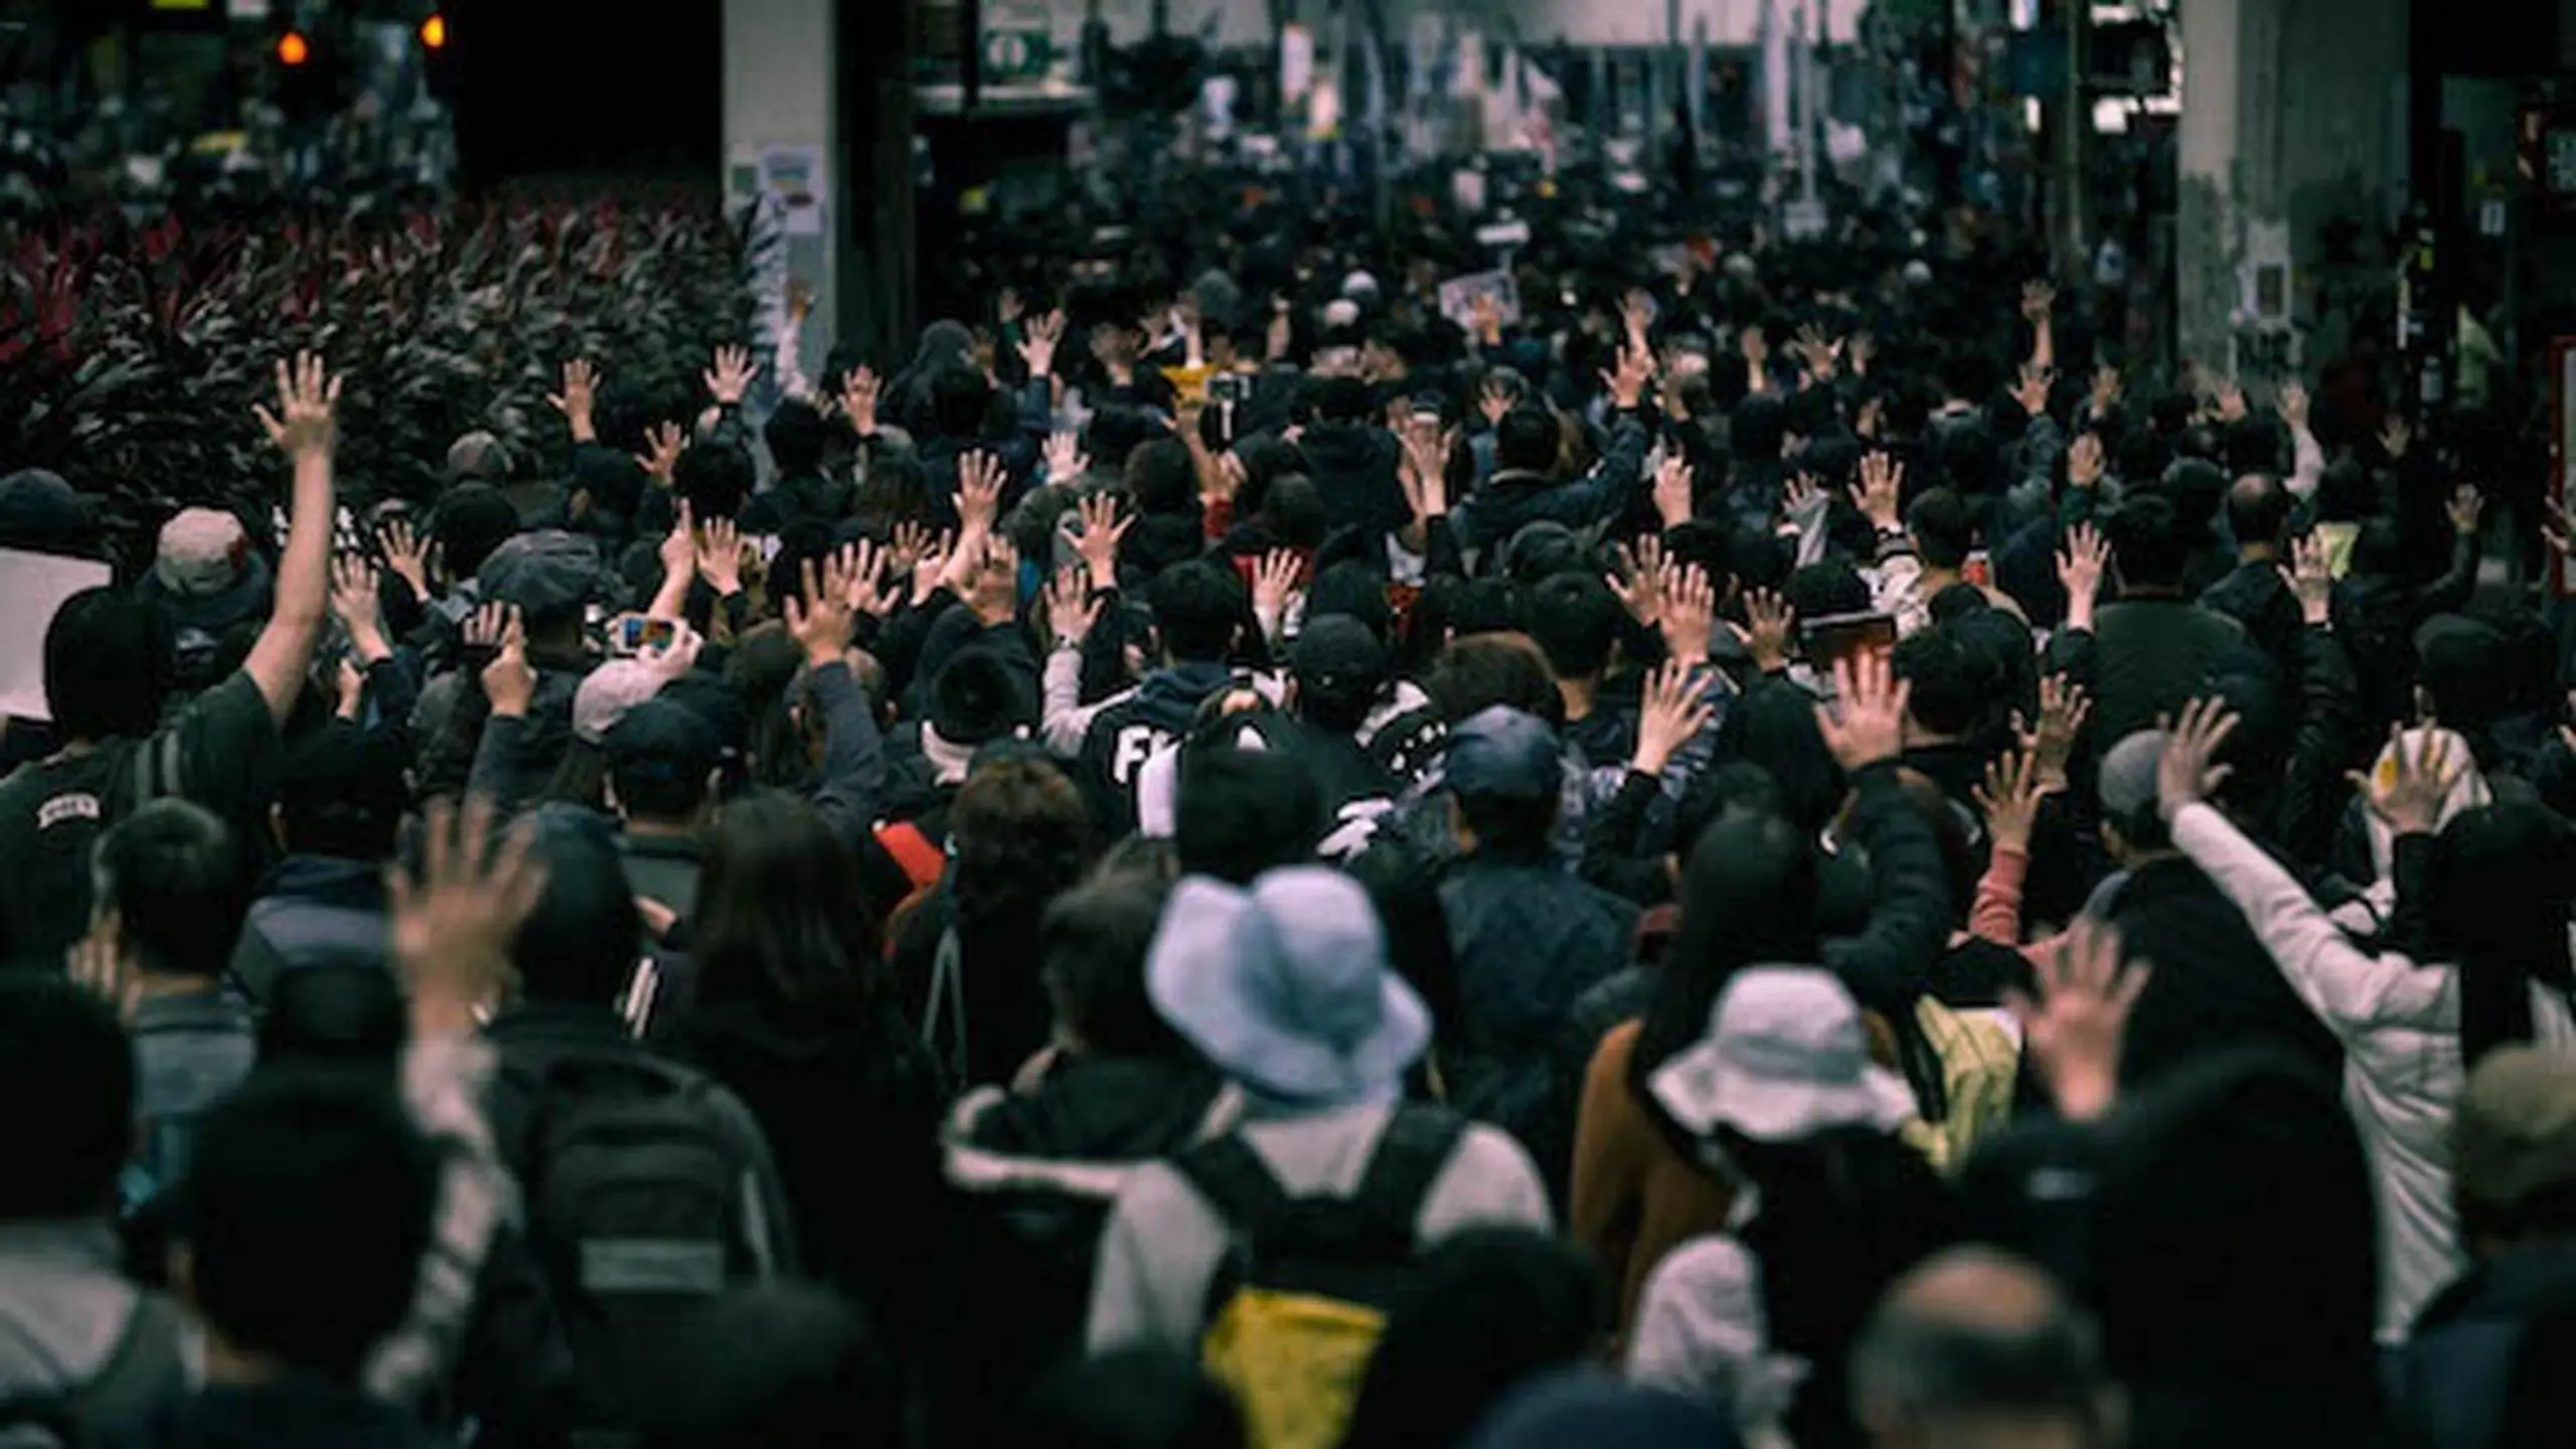
[[[1342,1441],[1386,1312],[1417,1276],[1422,1199],[1463,1134],[1453,1111],[1399,1106],[1350,1196],[1288,1196],[1242,1132],[1172,1158],[1234,1230],[1203,1359],[1244,1410],[1247,1449]]]

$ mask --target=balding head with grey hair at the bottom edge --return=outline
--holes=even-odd
[[[1852,1421],[1883,1449],[2097,1449],[2123,1439],[2092,1320],[1991,1248],[1927,1258],[1852,1346]]]

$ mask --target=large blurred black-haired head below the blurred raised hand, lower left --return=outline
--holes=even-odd
[[[412,1312],[438,1155],[392,1083],[255,1073],[188,1158],[191,1299],[237,1348],[355,1379]]]

